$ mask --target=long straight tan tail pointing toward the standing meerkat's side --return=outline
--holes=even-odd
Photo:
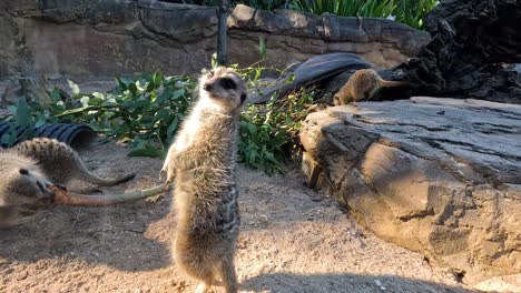
[[[166,192],[170,188],[171,185],[166,185],[164,183],[151,189],[115,195],[71,194],[66,189],[56,185],[51,185],[49,189],[55,193],[55,204],[72,206],[107,206],[146,199],[161,192]]]

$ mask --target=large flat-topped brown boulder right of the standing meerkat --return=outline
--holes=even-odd
[[[521,107],[412,98],[307,117],[303,170],[379,236],[476,283],[521,272]]]

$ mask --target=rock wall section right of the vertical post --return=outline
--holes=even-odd
[[[405,61],[426,44],[426,32],[386,19],[315,16],[293,10],[274,12],[237,6],[228,18],[230,57],[243,64],[259,60],[258,38],[265,38],[274,64],[330,52],[356,53],[381,67]]]

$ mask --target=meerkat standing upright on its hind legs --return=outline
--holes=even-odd
[[[168,150],[161,175],[175,179],[177,229],[174,260],[207,292],[220,276],[237,292],[234,256],[239,214],[235,164],[237,118],[246,84],[232,69],[217,68],[199,79],[199,99]]]

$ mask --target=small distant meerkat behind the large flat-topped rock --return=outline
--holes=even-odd
[[[373,99],[374,94],[382,88],[409,85],[409,82],[383,80],[372,69],[357,70],[342,89],[334,95],[335,105],[347,104],[360,100]]]

